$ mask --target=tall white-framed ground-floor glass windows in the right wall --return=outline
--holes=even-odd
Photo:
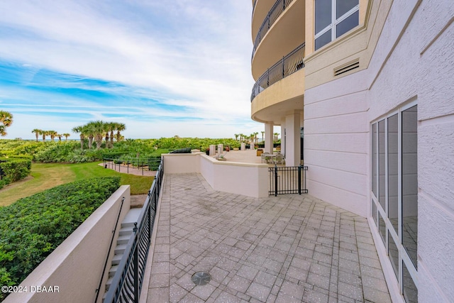
[[[418,105],[372,123],[372,218],[406,302],[418,288]]]

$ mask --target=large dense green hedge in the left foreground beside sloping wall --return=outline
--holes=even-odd
[[[1,285],[20,284],[119,186],[119,177],[80,180],[1,207]]]

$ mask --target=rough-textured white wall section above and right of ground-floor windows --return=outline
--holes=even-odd
[[[454,2],[394,1],[369,75],[368,121],[418,104],[419,302],[454,297]]]

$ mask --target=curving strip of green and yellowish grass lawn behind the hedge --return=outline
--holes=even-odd
[[[99,162],[80,164],[33,163],[31,177],[14,182],[0,190],[0,206],[16,202],[45,189],[91,177],[121,177],[121,184],[131,185],[131,194],[147,194],[155,177],[128,175],[105,169]]]

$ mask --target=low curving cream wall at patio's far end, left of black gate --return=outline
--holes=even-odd
[[[166,154],[166,174],[200,173],[213,189],[248,197],[268,197],[268,166],[218,161],[204,153]]]

